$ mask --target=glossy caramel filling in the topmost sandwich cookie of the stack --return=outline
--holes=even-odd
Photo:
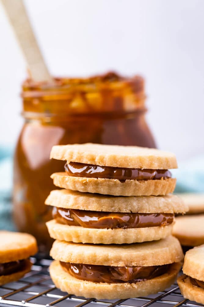
[[[78,162],[65,164],[65,171],[69,176],[108,178],[118,180],[159,180],[170,178],[167,169],[129,169],[123,167],[99,166]]]

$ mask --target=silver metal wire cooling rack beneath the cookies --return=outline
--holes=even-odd
[[[0,306],[24,307],[203,307],[196,302],[184,299],[177,284],[165,292],[148,297],[138,297],[125,300],[96,300],[76,297],[57,289],[49,275],[51,260],[32,258],[32,271],[18,282],[12,282],[0,287]]]

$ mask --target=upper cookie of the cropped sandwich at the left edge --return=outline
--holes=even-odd
[[[0,263],[26,259],[37,253],[37,243],[32,235],[0,231]]]

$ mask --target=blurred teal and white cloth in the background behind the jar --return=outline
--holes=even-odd
[[[13,150],[0,146],[0,229],[15,230],[12,221]],[[204,192],[204,156],[179,163],[172,170],[177,178],[175,192]]]

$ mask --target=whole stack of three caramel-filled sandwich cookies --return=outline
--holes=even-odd
[[[65,172],[46,199],[56,241],[50,275],[62,291],[124,299],[163,291],[176,279],[183,252],[171,236],[174,213],[187,205],[174,191],[176,157],[156,149],[98,144],[54,146]],[[147,242],[149,241],[149,242]]]

